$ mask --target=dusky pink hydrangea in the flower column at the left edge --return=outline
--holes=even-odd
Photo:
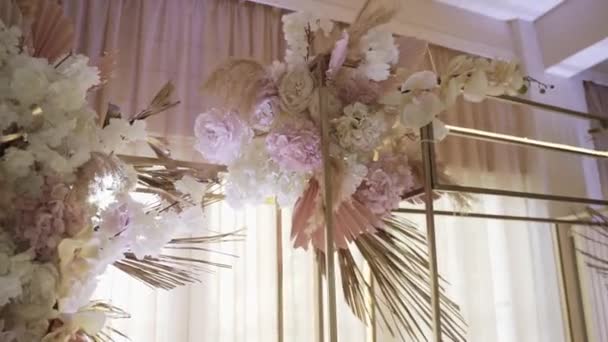
[[[49,260],[61,239],[80,232],[85,220],[82,203],[70,196],[68,185],[53,177],[45,178],[38,198],[15,200],[15,236],[27,248],[34,248],[39,260]]]

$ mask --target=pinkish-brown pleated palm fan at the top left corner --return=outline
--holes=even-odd
[[[22,0],[28,16],[31,16],[32,31],[28,40],[34,48],[34,57],[55,61],[69,53],[74,47],[74,25],[61,6],[53,0]]]

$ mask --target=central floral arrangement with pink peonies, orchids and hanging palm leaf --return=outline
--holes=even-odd
[[[198,116],[194,134],[207,160],[227,166],[231,205],[276,197],[281,206],[293,206],[294,247],[322,254],[321,121],[327,117],[334,241],[346,300],[369,321],[365,293],[371,285],[354,262],[354,249],[372,270],[374,303],[382,303],[389,329],[418,340],[428,336],[419,320],[431,320],[424,299],[430,296],[426,239],[392,211],[423,186],[420,152],[412,148],[420,144],[419,129],[432,123],[440,141],[447,130],[437,117],[459,96],[480,102],[517,95],[526,81],[516,63],[471,56],[455,58],[439,75],[399,68],[395,38],[381,27],[397,8],[386,5],[368,1],[341,32],[307,13],[285,15],[285,61],[222,64],[203,86],[214,107]],[[332,41],[331,48],[318,49],[321,40]],[[445,173],[439,177],[451,181]],[[457,305],[445,294],[441,301],[444,335],[463,340]]]

